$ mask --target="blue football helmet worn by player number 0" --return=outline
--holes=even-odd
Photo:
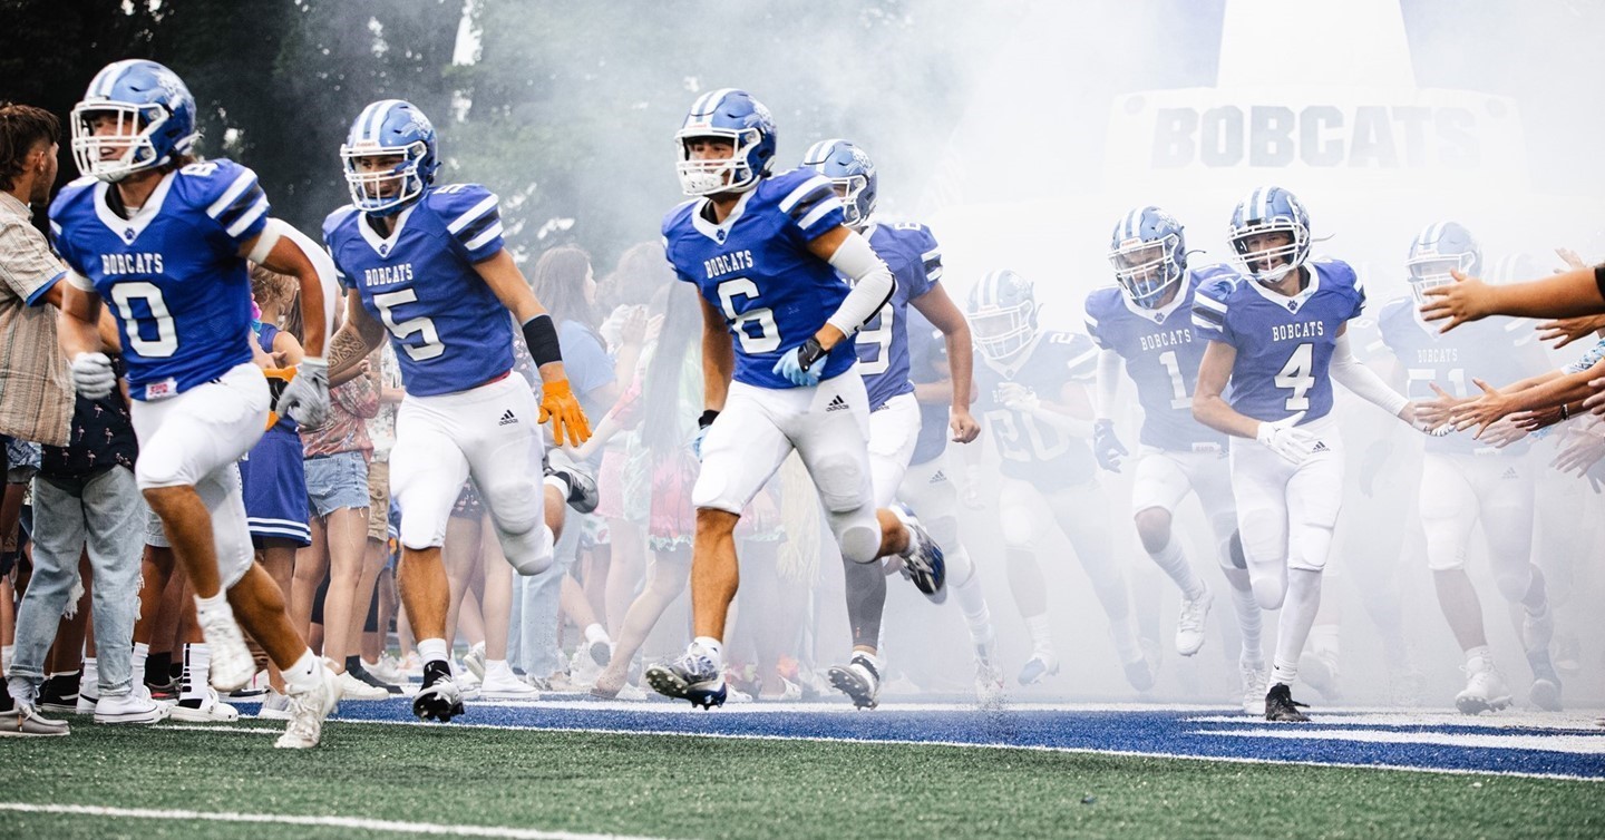
[[[116,131],[95,133],[103,117],[117,120]],[[197,136],[196,99],[183,79],[143,58],[116,61],[95,74],[71,122],[79,172],[108,183],[188,154]]]

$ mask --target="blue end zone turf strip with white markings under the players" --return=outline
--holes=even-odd
[[[242,704],[242,712],[252,709]],[[332,720],[414,723],[408,704],[347,702]],[[1411,768],[1605,781],[1605,729],[1581,715],[1335,710],[1274,725],[1215,709],[764,704],[697,712],[669,704],[469,702],[461,723],[732,737],[1064,749],[1236,761]],[[453,723],[456,725],[456,723]]]

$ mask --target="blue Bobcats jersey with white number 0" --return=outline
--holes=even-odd
[[[250,361],[250,276],[241,248],[268,221],[257,173],[233,160],[165,175],[133,218],[111,184],[79,178],[50,205],[56,253],[117,316],[128,393],[160,399]]]

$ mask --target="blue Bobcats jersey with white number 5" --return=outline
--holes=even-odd
[[[473,271],[502,250],[501,210],[478,184],[429,189],[390,236],[345,205],[323,223],[340,282],[390,330],[409,394],[465,391],[512,370],[514,324]]]

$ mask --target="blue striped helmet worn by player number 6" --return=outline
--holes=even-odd
[[[693,160],[690,141],[700,138],[729,141],[733,146],[730,157]],[[687,196],[745,192],[775,164],[775,120],[764,103],[745,90],[721,88],[692,103],[674,133],[674,146],[681,155],[676,172]]]

